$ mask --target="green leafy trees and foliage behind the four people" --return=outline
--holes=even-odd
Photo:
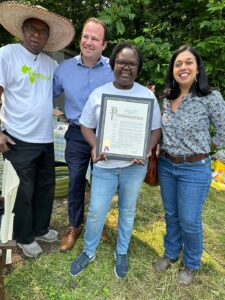
[[[22,1],[26,2],[26,1]],[[84,21],[99,17],[109,31],[109,56],[120,40],[135,43],[143,52],[144,67],[141,83],[156,84],[157,92],[164,88],[165,74],[171,53],[182,44],[197,48],[206,65],[210,85],[225,95],[225,0],[31,0],[73,21],[75,43]],[[12,42],[10,35],[0,28],[0,44]]]

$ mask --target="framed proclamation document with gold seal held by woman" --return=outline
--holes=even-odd
[[[146,159],[150,147],[154,99],[103,94],[97,156]]]

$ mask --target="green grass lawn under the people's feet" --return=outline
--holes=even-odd
[[[68,273],[82,250],[83,235],[68,253],[59,253],[58,243],[42,243],[45,255],[15,264],[5,276],[7,300],[225,299],[225,192],[210,190],[203,222],[205,251],[194,283],[189,287],[177,284],[180,261],[166,273],[154,272],[152,262],[163,254],[165,223],[159,188],[144,184],[129,249],[129,272],[124,280],[118,280],[113,271],[117,229],[114,200],[106,222],[109,241],[100,243],[96,259],[83,273],[77,277]],[[66,201],[56,200],[52,227],[62,233],[66,224]]]

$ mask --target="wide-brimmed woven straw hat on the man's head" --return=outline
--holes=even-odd
[[[27,19],[39,19],[50,28],[50,35],[43,50],[58,51],[65,48],[74,38],[73,24],[66,18],[41,6],[7,1],[0,3],[0,23],[15,37],[23,40],[22,25]]]

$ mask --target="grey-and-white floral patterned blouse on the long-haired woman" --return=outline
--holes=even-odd
[[[215,134],[210,135],[210,125]],[[161,150],[172,155],[209,153],[210,145],[225,147],[225,101],[218,91],[207,96],[186,96],[177,111],[164,99]]]

